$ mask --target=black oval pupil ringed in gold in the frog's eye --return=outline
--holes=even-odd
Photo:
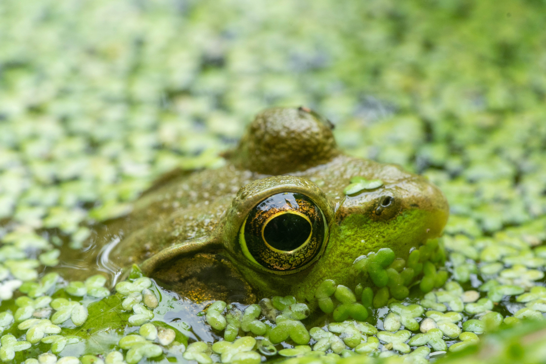
[[[275,249],[289,252],[305,243],[311,224],[294,213],[283,213],[271,219],[264,228],[264,238]]]

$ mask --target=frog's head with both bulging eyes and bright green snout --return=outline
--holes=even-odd
[[[354,285],[361,256],[390,248],[407,259],[441,235],[448,204],[437,187],[400,166],[346,156],[332,128],[306,108],[259,114],[227,156],[256,179],[209,236],[165,248],[143,269],[216,249],[259,293],[311,301],[324,279]]]

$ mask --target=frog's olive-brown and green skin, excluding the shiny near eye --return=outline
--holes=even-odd
[[[229,300],[237,291],[247,302],[272,295],[312,302],[324,279],[353,288],[357,277],[351,267],[359,256],[388,247],[407,258],[412,248],[440,236],[448,218],[446,198],[437,187],[400,166],[341,153],[331,124],[308,109],[263,111],[226,158],[222,168],[174,172],[158,181],[122,223],[124,238],[109,259],[119,266],[140,264],[193,300]],[[354,176],[382,180],[383,186],[346,196],[343,189]],[[310,197],[328,225],[316,258],[288,272],[250,261],[239,240],[248,212],[280,192]],[[385,196],[394,200],[383,208]],[[239,280],[240,287],[230,292],[229,282],[222,289],[199,286],[195,277],[203,277],[203,266],[212,266],[212,260],[223,267],[218,277]],[[215,274],[207,271],[211,282]]]

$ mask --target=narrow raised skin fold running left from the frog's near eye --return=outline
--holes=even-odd
[[[175,258],[179,258],[183,255],[200,252],[205,247],[213,246],[222,247],[222,242],[219,241],[215,235],[204,236],[194,240],[187,240],[180,244],[165,248],[159,253],[153,255],[151,258],[146,259],[140,264],[140,269],[145,275],[149,276],[160,264]]]

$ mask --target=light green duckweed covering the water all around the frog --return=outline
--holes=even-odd
[[[0,2],[0,360],[543,358],[545,18],[539,0]],[[300,104],[348,153],[442,189],[445,270],[368,256],[381,289],[326,281],[321,327],[289,296],[173,318],[181,297],[136,269],[63,276],[155,178],[221,165],[254,114]]]

